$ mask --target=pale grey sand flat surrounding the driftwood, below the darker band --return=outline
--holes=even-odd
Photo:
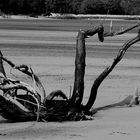
[[[74,81],[76,31],[39,31],[0,29],[0,50],[17,65],[26,64],[40,77],[46,93],[61,89],[70,96]],[[109,66],[118,50],[136,33],[106,38],[100,43],[97,36],[87,39],[85,75],[86,103],[96,77]],[[131,47],[123,60],[104,80],[93,106],[99,107],[118,102],[134,94],[140,87],[140,42]],[[4,63],[9,73],[10,68]],[[15,76],[27,81],[27,77],[12,70]],[[140,131],[140,107],[118,107],[99,111],[94,120],[79,122],[22,122],[11,123],[0,118],[2,140],[136,140]]]

